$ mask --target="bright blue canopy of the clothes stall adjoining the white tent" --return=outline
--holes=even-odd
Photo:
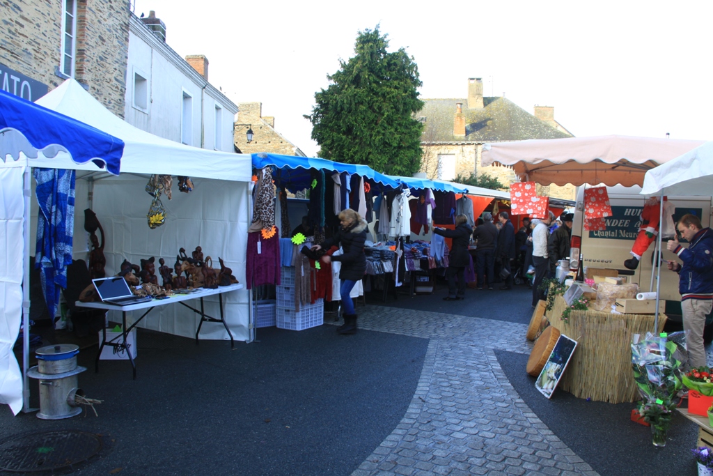
[[[309,188],[312,184],[310,169],[324,170],[326,172],[347,172],[352,175],[363,176],[374,185],[380,184],[383,188],[399,188],[399,182],[394,178],[379,173],[369,166],[332,162],[324,158],[283,156],[277,153],[253,153],[252,166],[255,168],[275,167],[277,169],[274,175],[275,181],[291,192]]]

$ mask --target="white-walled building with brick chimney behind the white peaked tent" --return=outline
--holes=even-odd
[[[208,64],[204,55],[173,51],[154,11],[130,14],[125,121],[188,146],[234,152],[237,105],[208,82]]]

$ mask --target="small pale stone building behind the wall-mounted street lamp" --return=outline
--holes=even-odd
[[[286,156],[305,157],[292,142],[275,130],[275,118],[262,116],[262,103],[238,103],[240,112],[235,121],[233,141],[242,153],[269,152]],[[247,141],[247,131],[252,131],[252,139]]]

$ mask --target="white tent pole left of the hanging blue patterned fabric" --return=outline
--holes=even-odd
[[[27,371],[30,368],[30,196],[31,172],[29,166],[23,173],[25,210],[24,223],[22,224],[22,238],[24,239],[24,254],[22,257],[22,410],[33,411],[30,408],[30,383]]]

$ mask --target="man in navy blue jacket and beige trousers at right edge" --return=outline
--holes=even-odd
[[[702,367],[706,365],[703,329],[706,315],[713,308],[713,230],[702,228],[700,219],[690,213],[681,217],[676,228],[690,244],[684,248],[676,237],[668,241],[666,248],[683,261],[681,265],[670,260],[668,268],[680,276],[678,290],[681,293],[683,330],[688,331],[686,347],[689,367]]]

